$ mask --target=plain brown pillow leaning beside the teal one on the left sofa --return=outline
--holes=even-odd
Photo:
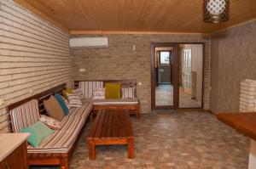
[[[50,117],[58,121],[62,121],[63,117],[65,116],[64,111],[61,109],[61,105],[52,95],[49,97],[49,99],[44,100],[44,108]]]

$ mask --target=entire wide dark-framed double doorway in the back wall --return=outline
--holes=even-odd
[[[151,44],[151,106],[202,107],[203,43]]]

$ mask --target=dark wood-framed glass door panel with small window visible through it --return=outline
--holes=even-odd
[[[178,43],[151,44],[151,106],[154,109],[178,107]]]

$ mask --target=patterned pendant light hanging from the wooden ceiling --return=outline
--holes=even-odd
[[[229,20],[230,0],[204,0],[204,21],[218,23]]]

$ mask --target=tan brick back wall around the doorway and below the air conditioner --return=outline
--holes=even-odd
[[[79,37],[79,36],[76,36]],[[89,36],[86,36],[89,37]],[[201,34],[170,35],[90,35],[108,37],[108,48],[73,48],[73,79],[137,79],[143,86],[137,87],[137,96],[142,104],[142,112],[151,110],[151,42],[205,42],[204,58],[204,109],[209,107],[209,38]],[[136,45],[136,51],[132,45]],[[84,68],[85,72],[79,72]]]

